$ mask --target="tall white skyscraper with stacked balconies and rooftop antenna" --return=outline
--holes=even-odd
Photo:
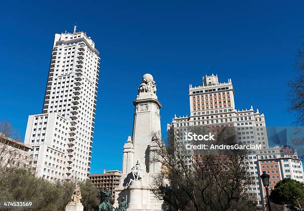
[[[28,117],[36,176],[85,180],[90,169],[100,57],[84,32],[55,34],[42,113]]]

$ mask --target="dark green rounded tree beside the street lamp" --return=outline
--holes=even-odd
[[[290,209],[301,209],[304,205],[304,184],[291,178],[278,182],[270,193],[270,200],[279,205],[288,205]]]

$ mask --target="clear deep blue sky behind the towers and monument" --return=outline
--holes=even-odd
[[[304,1],[3,1],[0,119],[24,136],[40,113],[55,33],[75,22],[95,41],[101,70],[91,173],[121,169],[141,77],[151,73],[161,124],[189,114],[189,84],[232,79],[236,108],[259,108],[287,126],[288,80],[304,35]]]

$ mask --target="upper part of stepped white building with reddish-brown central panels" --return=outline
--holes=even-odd
[[[187,132],[191,127],[204,126],[208,132],[216,133],[221,127],[230,127],[237,132],[237,142],[242,144],[261,144],[268,148],[265,116],[259,110],[237,110],[234,105],[234,91],[231,79],[227,83],[219,83],[218,76],[203,77],[203,85],[189,86],[190,116],[180,116],[167,124],[168,134]],[[180,143],[187,144],[185,137]],[[182,148],[184,153],[185,147]]]

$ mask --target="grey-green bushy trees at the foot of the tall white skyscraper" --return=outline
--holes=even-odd
[[[98,207],[98,190],[90,181],[78,183],[85,211]],[[13,169],[0,174],[0,201],[32,202],[31,211],[65,211],[76,183],[50,183],[35,177],[29,169]],[[13,209],[7,209],[13,210]]]

